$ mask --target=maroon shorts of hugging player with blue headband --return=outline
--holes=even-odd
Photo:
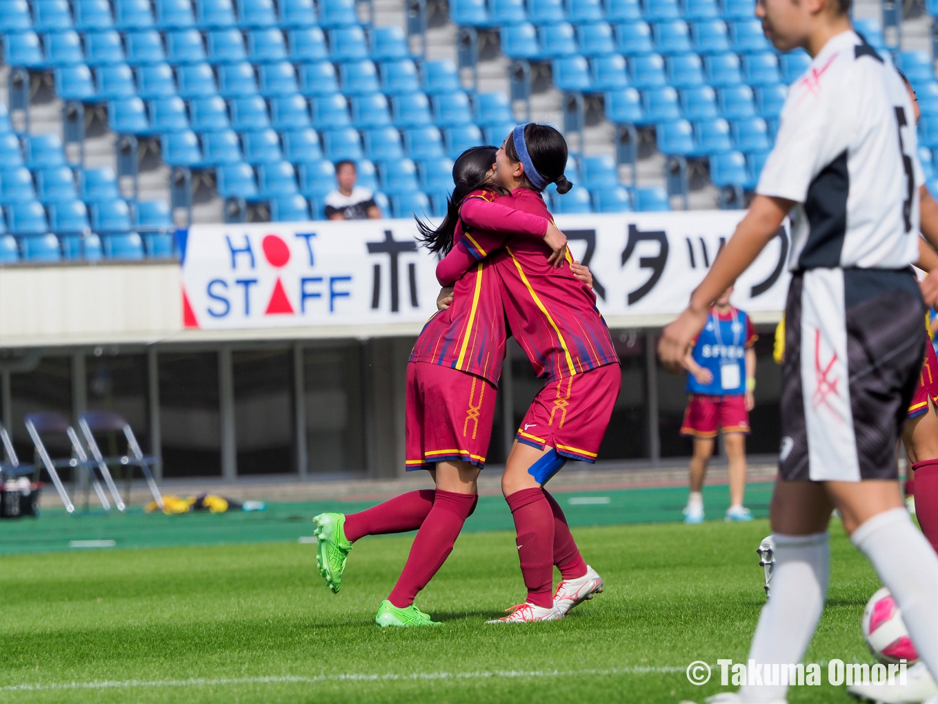
[[[551,381],[537,393],[515,438],[538,450],[596,462],[622,386],[618,364]]]

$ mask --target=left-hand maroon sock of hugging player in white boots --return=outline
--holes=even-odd
[[[551,504],[543,489],[522,489],[505,497],[515,519],[518,558],[522,563],[527,602],[553,605],[553,527]],[[559,508],[559,507],[558,507]]]

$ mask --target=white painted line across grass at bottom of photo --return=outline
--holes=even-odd
[[[215,680],[193,678],[190,680],[125,680],[125,681],[93,681],[93,682],[56,682],[52,684],[24,683],[9,684],[0,687],[0,692],[38,692],[43,690],[62,689],[130,689],[133,687],[192,687],[216,686],[219,684],[277,684],[299,683],[314,684],[316,682],[343,682],[343,681],[425,681],[425,680],[484,680],[488,678],[543,678],[543,677],[582,677],[610,676],[610,675],[649,675],[671,674],[684,672],[686,667],[617,667],[613,669],[582,669],[582,670],[536,670],[526,672],[523,670],[494,670],[492,672],[415,672],[409,675],[394,673],[367,674],[348,673],[342,675],[316,675],[314,677],[300,677],[283,675],[274,677],[238,677],[219,678]]]

